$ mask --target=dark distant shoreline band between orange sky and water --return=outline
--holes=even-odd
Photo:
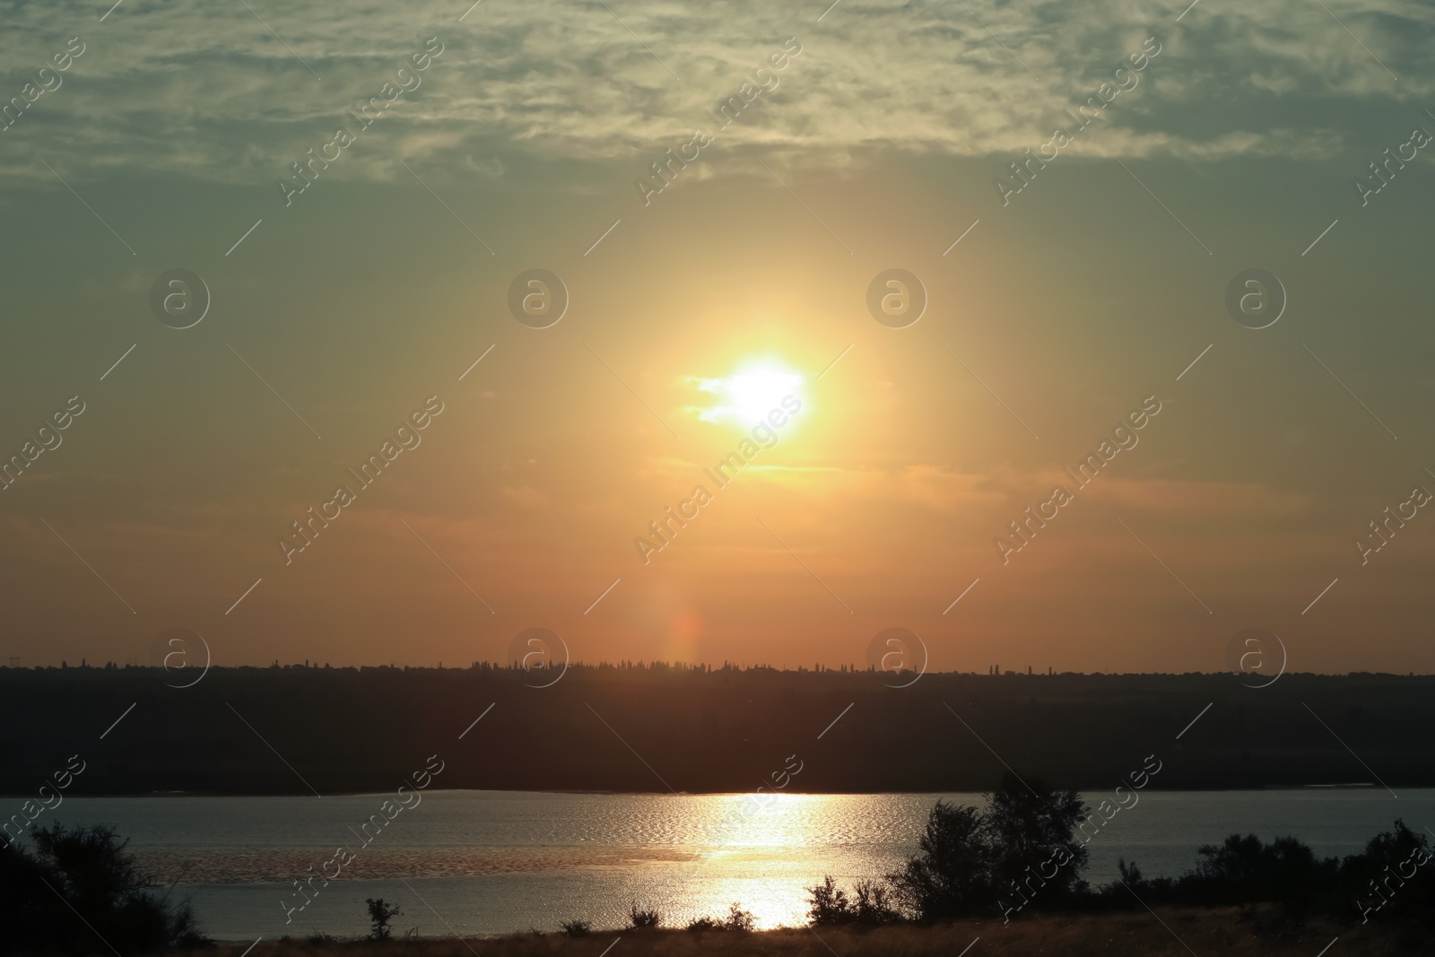
[[[554,674],[560,674],[554,671]],[[198,680],[197,680],[198,679]],[[974,793],[1435,786],[1435,677],[518,669],[0,669],[0,792]],[[177,687],[179,686],[179,687]],[[1358,755],[1358,758],[1356,758]],[[788,770],[784,770],[788,768]],[[798,773],[795,769],[801,768]]]

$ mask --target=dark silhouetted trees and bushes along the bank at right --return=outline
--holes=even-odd
[[[1180,877],[1147,878],[1135,862],[1092,890],[1088,852],[1075,829],[1089,809],[1073,791],[1026,786],[1006,775],[987,806],[938,801],[901,869],[867,878],[848,894],[827,877],[808,888],[814,925],[933,923],[1025,913],[1142,910],[1144,905],[1231,907],[1273,904],[1281,921],[1313,915],[1366,923],[1403,920],[1435,930],[1431,842],[1403,821],[1372,838],[1363,854],[1319,858],[1296,838],[1270,844],[1233,834],[1200,848],[1200,864]]]

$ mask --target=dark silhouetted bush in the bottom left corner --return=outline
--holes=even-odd
[[[123,954],[198,947],[187,902],[139,872],[112,828],[32,828],[30,851],[0,848],[0,956]]]

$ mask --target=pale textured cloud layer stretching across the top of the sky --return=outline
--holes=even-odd
[[[327,175],[387,179],[402,175],[402,156],[497,176],[525,155],[631,164],[639,175],[695,126],[722,149],[819,162],[891,149],[1009,156],[1046,142],[1063,109],[1093,96],[1149,36],[1159,56],[1078,155],[1317,156],[1342,141],[1345,119],[1379,108],[1413,122],[1435,90],[1424,56],[1435,10],[1413,0],[1339,11],[1349,33],[1319,6],[1201,4],[1178,23],[1129,0],[974,3],[970,13],[845,3],[822,23],[791,4],[494,3],[462,23],[464,3],[343,16],[253,6],[263,23],[243,4],[198,0],[122,6],[103,23],[90,4],[7,4],[3,96],[20,95],[69,37],[86,53],[3,133],[0,175],[47,176],[43,149],[60,166],[277,179],[352,126],[346,110],[379,95],[430,36],[445,46],[422,86]],[[773,73],[776,86],[718,129],[707,110],[788,37],[802,52]],[[1316,109],[1319,126],[1306,122]]]

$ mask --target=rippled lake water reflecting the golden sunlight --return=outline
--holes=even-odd
[[[423,935],[555,930],[571,918],[618,927],[633,902],[656,907],[667,924],[723,914],[733,901],[762,927],[799,924],[804,888],[824,874],[850,882],[890,871],[938,798],[982,801],[781,795],[752,814],[745,795],[439,791],[382,831],[370,825],[376,836],[364,844],[360,826],[390,796],[72,798],[53,816],[116,825],[146,868],[178,881],[175,895],[192,897],[207,933],[254,940],[362,934],[366,897],[402,904],[395,925]],[[1177,874],[1197,847],[1234,831],[1293,834],[1317,854],[1352,854],[1396,816],[1435,825],[1432,811],[1435,791],[1402,791],[1398,801],[1379,788],[1145,792],[1091,841],[1086,878],[1112,880],[1121,857],[1148,875]],[[313,900],[290,913],[307,900],[293,881],[321,874],[340,847],[353,862],[327,887],[314,880]]]

